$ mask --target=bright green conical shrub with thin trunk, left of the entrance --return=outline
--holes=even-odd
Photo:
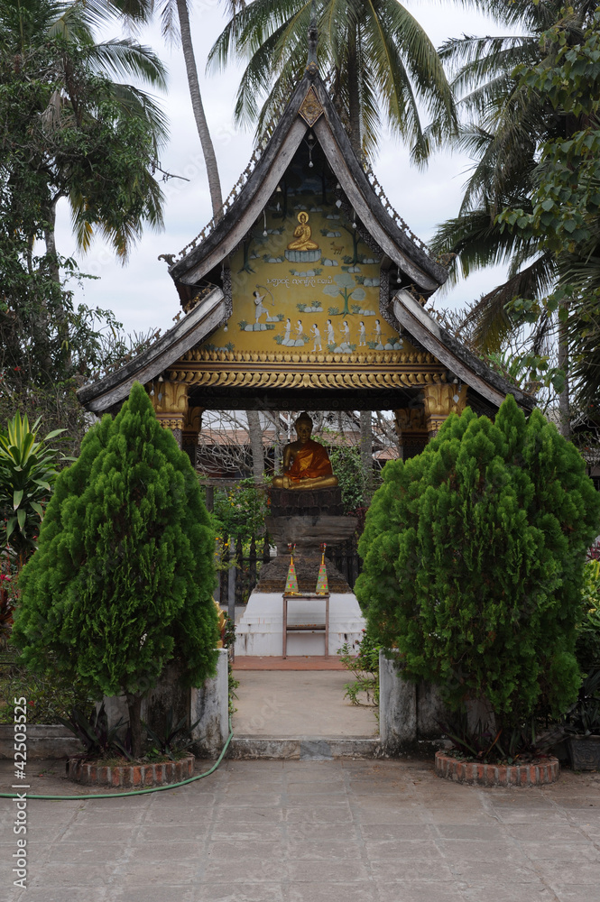
[[[171,658],[198,686],[214,672],[214,536],[189,457],[143,387],[90,429],[62,471],[24,567],[13,641],[23,662],[74,668],[126,695],[134,755],[143,695]]]

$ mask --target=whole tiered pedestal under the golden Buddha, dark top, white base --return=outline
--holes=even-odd
[[[334,512],[335,511],[335,512]],[[300,593],[314,593],[321,563],[319,545],[339,545],[350,538],[355,517],[341,513],[342,497],[338,487],[294,491],[272,489],[271,516],[265,525],[277,557],[263,564],[245,613],[236,625],[235,654],[280,656],[282,654],[282,595],[290,566],[288,545],[296,546],[294,565]],[[329,655],[335,655],[345,642],[352,645],[361,639],[365,619],[356,596],[346,578],[330,561],[327,562],[329,585]],[[314,610],[313,610],[314,608]],[[299,619],[300,618],[300,619]],[[290,605],[288,622],[315,622],[323,619],[323,602],[302,602],[301,611]],[[287,654],[322,655],[323,633],[296,632],[288,636]]]

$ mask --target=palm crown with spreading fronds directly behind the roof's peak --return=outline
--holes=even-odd
[[[269,132],[304,72],[311,14],[319,71],[355,152],[373,158],[386,122],[411,143],[414,159],[424,161],[439,134],[452,133],[454,102],[433,44],[397,0],[254,0],[236,9],[208,58],[212,69],[246,60],[236,121]],[[428,134],[420,107],[437,123]]]

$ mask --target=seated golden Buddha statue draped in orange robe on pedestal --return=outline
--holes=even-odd
[[[327,449],[314,441],[309,414],[300,413],[294,423],[297,441],[283,448],[283,475],[275,476],[275,489],[327,489],[337,485]]]

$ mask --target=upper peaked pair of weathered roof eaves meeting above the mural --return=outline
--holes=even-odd
[[[317,93],[323,115],[309,126],[300,116],[300,106],[310,87]],[[429,295],[448,278],[448,271],[411,241],[385,211],[357,160],[327,87],[318,75],[307,74],[294,91],[260,160],[233,205],[202,244],[169,268],[172,279],[195,285],[224,261],[263,212],[309,130],[317,136],[329,165],[366,230],[383,252],[400,267],[420,290]]]

